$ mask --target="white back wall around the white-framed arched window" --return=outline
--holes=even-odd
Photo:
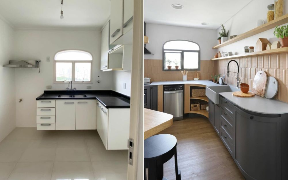
[[[15,60],[40,59],[40,73],[38,69],[15,69],[16,83],[16,126],[36,126],[36,100],[46,90],[47,85],[52,85],[52,90],[65,90],[67,84],[54,84],[54,55],[63,49],[85,50],[93,55],[92,84],[73,84],[77,90],[85,90],[87,85],[92,90],[111,90],[113,87],[113,73],[100,71],[100,31],[34,31],[17,30],[14,37]],[[46,57],[50,56],[50,62]],[[100,77],[98,77],[100,76]],[[97,81],[100,80],[100,83]],[[22,98],[21,103],[18,99]],[[14,101],[15,102],[15,101]]]

